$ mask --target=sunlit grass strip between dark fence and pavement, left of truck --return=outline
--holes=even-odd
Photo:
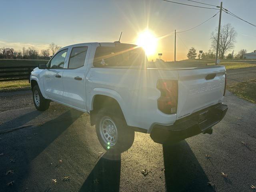
[[[29,89],[28,80],[0,82],[0,92]]]

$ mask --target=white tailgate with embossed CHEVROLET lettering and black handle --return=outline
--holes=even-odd
[[[224,66],[178,70],[177,119],[222,102]]]

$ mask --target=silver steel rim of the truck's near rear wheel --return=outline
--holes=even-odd
[[[117,142],[117,128],[114,121],[105,116],[100,120],[100,136],[107,146],[114,146]]]

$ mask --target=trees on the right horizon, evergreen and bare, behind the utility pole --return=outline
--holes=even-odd
[[[214,32],[212,32],[210,39],[212,40],[212,46],[208,50],[208,52],[196,53],[196,49],[194,47],[188,50],[187,58],[188,59],[215,59],[216,58],[216,48],[217,48],[217,36],[218,36],[218,28]],[[243,55],[247,52],[246,49],[241,49],[237,54],[233,55],[229,53],[226,55],[226,52],[232,50],[236,43],[237,32],[234,27],[231,26],[230,23],[221,26],[220,28],[220,41],[218,48],[218,58],[219,59],[242,59]],[[256,50],[254,50],[256,52]]]

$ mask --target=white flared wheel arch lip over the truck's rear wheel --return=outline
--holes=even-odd
[[[96,95],[105,95],[105,96],[109,96],[109,97],[112,97],[113,99],[115,99],[123,114],[124,114],[124,118],[126,120],[126,123],[129,125],[130,124],[130,118],[128,116],[128,112],[125,110],[126,109],[126,106],[124,104],[124,101],[121,97],[121,95],[116,92],[115,90],[112,90],[112,89],[108,89],[108,88],[94,88],[91,92],[90,92],[90,96],[88,99],[88,102],[87,102],[87,106],[88,106],[88,111],[90,112],[91,110],[93,110],[93,102],[94,102],[94,98]]]

